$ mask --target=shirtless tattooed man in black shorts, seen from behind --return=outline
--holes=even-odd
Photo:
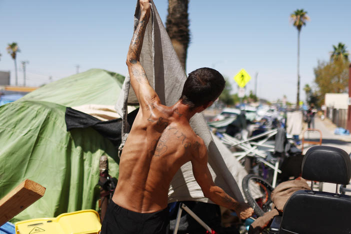
[[[240,218],[251,216],[252,208],[214,184],[207,167],[207,148],[189,125],[190,118],[210,106],[223,90],[222,75],[206,67],[194,70],[179,100],[172,106],[162,105],[139,62],[149,0],[140,0],[140,11],[126,60],[140,108],[120,156],[118,183],[101,233],[166,233],[169,183],[187,161],[206,197],[235,210]]]

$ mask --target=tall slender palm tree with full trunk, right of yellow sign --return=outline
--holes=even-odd
[[[297,95],[296,95],[296,108],[299,106],[300,102],[300,31],[302,26],[306,25],[306,21],[309,20],[307,16],[307,11],[303,9],[296,9],[293,13],[290,14],[290,20],[292,24],[297,28]]]

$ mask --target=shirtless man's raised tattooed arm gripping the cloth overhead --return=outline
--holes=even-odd
[[[146,25],[150,17],[149,0],[140,0],[140,18],[129,45],[126,64],[128,66],[130,83],[139,100],[140,106],[158,100],[158,96],[147,80],[146,73],[140,64],[140,52]]]

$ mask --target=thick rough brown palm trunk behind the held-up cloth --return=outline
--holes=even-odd
[[[176,55],[186,70],[187,48],[190,42],[188,0],[168,0],[166,30]]]

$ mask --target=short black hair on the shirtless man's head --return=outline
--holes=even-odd
[[[190,107],[198,107],[215,101],[223,91],[225,80],[215,69],[202,67],[189,73],[185,80],[180,101]]]

